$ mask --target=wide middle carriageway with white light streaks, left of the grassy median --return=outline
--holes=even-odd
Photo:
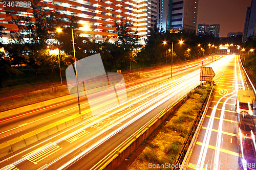
[[[232,56],[223,57],[209,66],[212,66],[216,75],[220,76],[223,73],[223,67],[232,58]],[[211,57],[208,63],[210,61]],[[197,67],[189,69],[185,68],[190,67],[189,65],[180,65],[180,68],[185,68],[181,72],[177,71],[179,70],[177,67],[172,80],[168,79],[170,75],[167,72],[160,73],[158,79],[151,79],[137,86],[129,86],[129,88],[141,90],[153,81],[158,83],[157,86],[146,88],[143,92],[130,97],[131,91],[128,88],[126,102],[2,158],[0,160],[2,169],[96,168],[97,163],[115,151],[115,148],[126,138],[133,135],[183,94],[200,84],[201,61],[191,65]],[[60,113],[68,114],[66,111]],[[44,123],[45,120],[42,122]]]

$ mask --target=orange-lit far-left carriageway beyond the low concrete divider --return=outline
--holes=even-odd
[[[205,63],[209,63],[210,61],[211,57],[204,59]],[[201,60],[196,60],[189,63],[176,64],[173,67],[174,76],[177,78],[186,74],[186,72],[197,69],[200,67],[200,63]],[[159,82],[165,81],[169,78],[169,72],[169,67],[143,72],[142,75],[144,78],[142,80],[126,83],[127,97],[129,98],[130,94],[141,93],[146,88],[151,88],[158,85]],[[173,79],[175,79],[175,77]],[[104,97],[103,95],[102,98]],[[90,112],[86,97],[80,97],[80,103],[82,112]],[[33,109],[28,112],[16,113],[16,116],[0,119],[0,143],[50,125],[58,120],[72,116],[77,112],[77,98],[74,97],[73,99],[61,103]]]

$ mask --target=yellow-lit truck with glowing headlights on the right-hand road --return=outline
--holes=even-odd
[[[237,113],[250,114],[254,110],[255,95],[252,90],[238,90]]]

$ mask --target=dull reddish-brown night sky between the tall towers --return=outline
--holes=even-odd
[[[219,23],[220,37],[229,32],[243,32],[247,7],[251,0],[199,0],[197,24]]]

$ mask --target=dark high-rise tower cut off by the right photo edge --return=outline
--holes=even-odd
[[[247,7],[245,23],[244,23],[244,32],[242,42],[245,42],[249,37],[253,38],[256,22],[256,0],[251,1],[251,6]]]

